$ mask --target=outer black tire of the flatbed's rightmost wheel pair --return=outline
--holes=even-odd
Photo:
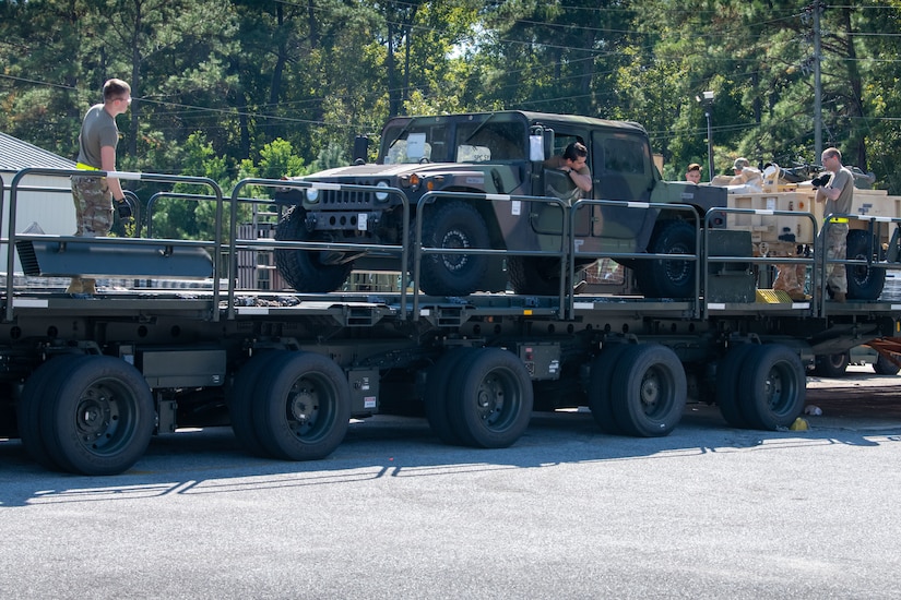
[[[754,346],[738,377],[738,406],[748,424],[787,428],[804,410],[807,379],[797,353],[781,344]]]

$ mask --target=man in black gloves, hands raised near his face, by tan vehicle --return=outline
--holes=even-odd
[[[838,148],[822,151],[822,166],[831,175],[825,184],[815,179],[817,189],[816,201],[825,202],[823,215],[851,214],[854,200],[854,173],[842,165],[842,153]],[[829,260],[844,260],[847,254],[847,217],[832,217],[826,224],[826,257]],[[832,300],[844,302],[847,298],[847,276],[843,264],[829,265],[826,285],[832,293]]]

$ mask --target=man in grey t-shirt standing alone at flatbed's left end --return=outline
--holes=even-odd
[[[79,134],[78,169],[83,171],[115,171],[116,145],[119,128],[116,117],[131,106],[131,86],[122,80],[108,80],[104,84],[104,101],[92,106],[82,121]],[[112,201],[116,201],[120,218],[131,216],[122,187],[114,177],[72,177],[72,200],[75,203],[75,236],[103,238],[112,225]],[[94,279],[72,277],[67,293],[96,292]]]

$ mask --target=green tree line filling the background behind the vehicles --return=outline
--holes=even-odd
[[[638,121],[675,179],[708,163],[706,110],[714,172],[816,163],[819,71],[823,146],[901,194],[900,19],[901,0],[0,0],[0,129],[74,157],[117,76],[120,168],[224,189],[346,164],[390,116],[497,109]]]

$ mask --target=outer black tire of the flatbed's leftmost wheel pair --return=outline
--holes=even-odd
[[[46,387],[42,434],[64,470],[121,473],[150,445],[156,412],[144,377],[114,357],[86,356]]]

